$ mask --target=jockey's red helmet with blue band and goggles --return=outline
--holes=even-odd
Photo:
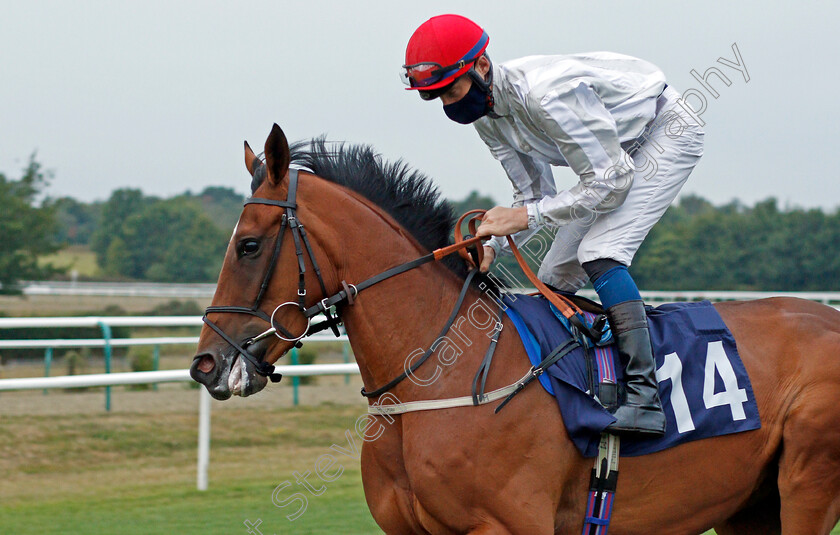
[[[423,91],[445,87],[472,68],[489,41],[487,33],[466,17],[432,17],[408,40],[403,82],[407,89]]]

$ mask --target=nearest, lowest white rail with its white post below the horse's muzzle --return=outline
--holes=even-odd
[[[289,377],[313,375],[350,375],[359,373],[359,366],[347,364],[310,364],[306,366],[277,366],[276,371]],[[43,388],[82,388],[90,386],[120,386],[149,383],[192,381],[189,370],[156,372],[99,373],[93,375],[68,375],[62,377],[27,377],[0,379],[0,391],[41,390]],[[199,389],[198,402],[198,461],[196,488],[207,490],[207,471],[210,466],[210,394]]]

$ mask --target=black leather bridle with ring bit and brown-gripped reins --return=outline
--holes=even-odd
[[[261,164],[260,167],[254,170],[254,178],[257,180],[258,175],[260,173],[265,173],[265,165]],[[442,247],[440,249],[436,249],[435,251],[421,256],[420,258],[416,258],[409,262],[405,262],[398,266],[392,267],[375,275],[369,279],[366,279],[356,285],[348,284],[346,281],[341,281],[342,289],[338,292],[329,295],[328,297],[324,297],[320,301],[316,302],[314,305],[307,308],[306,306],[306,283],[305,283],[305,275],[306,275],[306,263],[304,261],[304,250],[306,251],[307,256],[309,256],[309,261],[312,264],[312,269],[315,272],[315,275],[318,279],[318,284],[321,289],[321,295],[328,295],[327,288],[324,284],[324,279],[321,275],[321,270],[318,267],[318,262],[315,260],[315,255],[312,252],[312,247],[309,244],[309,238],[306,235],[306,230],[304,229],[303,223],[297,217],[297,187],[298,187],[298,176],[299,172],[297,169],[289,169],[289,191],[286,196],[285,201],[277,201],[274,199],[265,199],[261,197],[251,197],[245,201],[245,205],[249,204],[264,204],[268,206],[276,206],[278,208],[284,209],[284,213],[281,215],[280,218],[280,230],[277,233],[276,241],[274,242],[274,249],[272,251],[271,259],[269,260],[268,267],[266,268],[265,275],[263,276],[262,283],[260,284],[260,289],[257,294],[257,298],[254,300],[254,304],[250,307],[244,306],[209,306],[204,311],[204,317],[202,320],[204,323],[207,324],[208,327],[213,329],[222,339],[231,345],[236,351],[242,355],[242,358],[250,361],[256,370],[256,372],[260,375],[268,377],[271,379],[272,382],[279,382],[281,379],[281,375],[279,373],[275,373],[275,368],[273,365],[265,362],[264,360],[259,359],[258,357],[254,356],[253,354],[249,353],[247,348],[254,343],[267,338],[271,335],[275,335],[281,340],[287,342],[294,342],[295,347],[301,347],[302,342],[301,340],[307,336],[311,336],[315,333],[323,331],[327,328],[332,329],[333,334],[336,336],[340,336],[338,331],[338,326],[341,323],[341,316],[338,309],[335,311],[335,315],[333,316],[330,312],[333,306],[337,306],[343,304],[345,301],[348,305],[352,305],[355,302],[356,297],[358,296],[359,292],[365,290],[373,286],[374,284],[380,283],[386,279],[389,279],[395,275],[399,275],[401,273],[405,273],[406,271],[410,271],[417,267],[422,266],[423,264],[438,261],[443,259],[444,257],[458,252],[464,259],[472,261],[476,266],[481,264],[482,258],[482,248],[477,247],[478,244],[483,239],[487,239],[484,237],[473,237],[473,236],[463,236],[461,233],[461,223],[467,216],[472,215],[473,219],[469,220],[469,228],[470,232],[474,235],[476,231],[476,220],[480,219],[480,214],[483,214],[485,210],[472,210],[467,212],[458,220],[458,223],[455,227],[455,243],[446,247]],[[271,315],[266,314],[262,309],[260,309],[260,304],[262,303],[263,297],[265,297],[265,293],[268,289],[268,286],[271,282],[272,276],[274,275],[274,270],[277,265],[277,260],[280,257],[280,251],[283,245],[283,238],[286,233],[286,228],[288,228],[292,232],[292,239],[295,246],[295,256],[297,257],[298,263],[298,291],[297,302],[294,301],[287,301],[277,305]],[[552,304],[554,304],[567,318],[573,321],[574,324],[578,324],[578,321],[575,319],[579,318],[580,316],[580,309],[577,308],[574,303],[569,301],[566,298],[562,298],[551,292],[546,288],[536,276],[533,275],[530,268],[528,268],[527,264],[525,264],[524,259],[519,255],[518,250],[516,249],[516,245],[513,243],[513,240],[508,236],[508,242],[511,245],[511,249],[514,252],[514,255],[517,257],[520,265],[522,266],[523,270],[528,275],[529,279],[535,284],[535,286],[543,293],[546,298],[548,298]],[[471,255],[472,257],[468,256],[465,249],[471,248]],[[449,316],[446,324],[444,325],[440,336],[446,334],[449,329],[452,327],[452,324],[455,322],[457,312],[460,310],[461,305],[464,302],[464,299],[467,294],[467,290],[472,282],[473,278],[478,273],[478,268],[474,268],[469,272],[466,279],[464,280],[463,286],[461,288],[461,292],[458,295],[458,299],[455,303],[454,310]],[[549,295],[550,294],[550,295]],[[285,327],[279,325],[275,320],[274,316],[277,314],[277,311],[280,310],[282,307],[286,305],[293,305],[297,306],[298,309],[303,314],[303,317],[306,319],[306,329],[303,331],[302,334],[299,336],[294,336],[290,333]],[[210,321],[207,317],[208,314],[211,313],[233,313],[233,314],[248,314],[251,316],[256,316],[263,321],[269,324],[269,328],[263,331],[262,333],[253,336],[251,338],[246,339],[242,344],[237,343],[233,338],[231,338],[227,333],[225,333],[218,325]],[[324,314],[326,319],[320,323],[315,325],[312,324],[312,318],[318,314]],[[440,336],[438,338],[440,338]],[[495,347],[495,342],[493,346]],[[408,378],[413,372],[415,372],[426,360],[432,355],[434,352],[433,345],[426,350],[426,352],[418,358],[414,364],[411,365],[407,370],[403,371],[399,376],[394,378],[393,380],[389,381],[386,385],[377,388],[371,392],[362,389],[362,395],[365,397],[377,397],[397,384],[399,384],[404,379]]]

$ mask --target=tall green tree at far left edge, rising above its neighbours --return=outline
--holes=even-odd
[[[38,196],[48,175],[33,154],[18,180],[0,173],[0,292],[17,293],[21,280],[41,279],[58,270],[39,266],[38,257],[55,252],[55,213]]]

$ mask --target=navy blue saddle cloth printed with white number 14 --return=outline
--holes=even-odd
[[[508,295],[504,305],[532,364],[572,336],[561,322],[562,315],[543,297]],[[621,455],[645,455],[761,427],[735,339],[711,303],[648,308],[648,325],[667,418],[666,434],[655,439],[622,437]],[[608,336],[602,340],[611,341]],[[597,454],[601,432],[615,421],[595,398],[598,379],[595,374],[591,380],[593,369],[614,373],[614,379],[623,382],[623,366],[614,347],[578,348],[539,378],[557,399],[569,436],[586,457]]]

